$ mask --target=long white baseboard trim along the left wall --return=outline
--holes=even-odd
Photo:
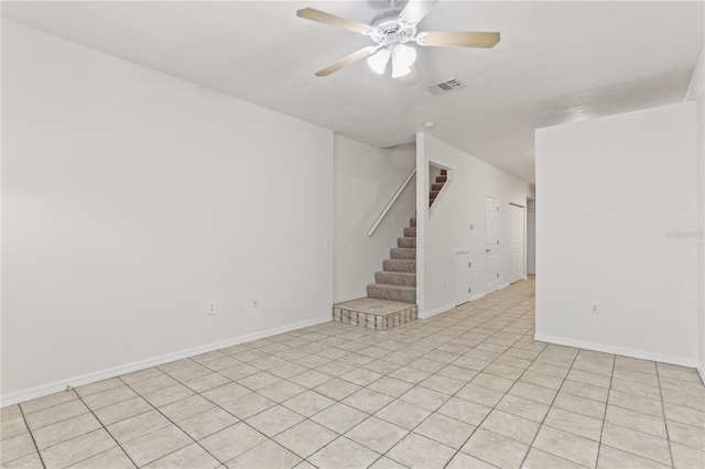
[[[0,407],[18,404],[20,402],[29,401],[36,397],[43,397],[55,392],[65,391],[69,388],[83,386],[84,384],[90,384],[96,381],[107,380],[109,378],[119,377],[126,373],[131,373],[133,371],[155,367],[158,364],[169,363],[170,361],[181,360],[182,358],[194,357],[213,350],[237,346],[238,343],[251,342],[252,340],[263,339],[265,337],[276,336],[278,334],[289,332],[290,330],[315,326],[328,320],[332,320],[330,316],[317,317],[315,319],[303,320],[301,323],[295,323],[282,327],[275,327],[273,329],[263,330],[261,332],[248,334],[247,336],[235,337],[231,339],[212,342],[186,350],[165,353],[158,357],[148,358],[145,360],[133,361],[131,363],[120,364],[118,367],[80,374],[77,377],[67,378],[65,380],[54,381],[52,383],[42,384],[35,388],[11,392],[0,396]]]

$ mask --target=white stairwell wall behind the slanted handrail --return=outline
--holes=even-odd
[[[367,296],[375,272],[414,216],[415,182],[409,183],[371,237],[367,233],[415,165],[415,145],[376,149],[335,137],[335,303]]]

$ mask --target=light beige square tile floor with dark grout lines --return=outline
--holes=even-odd
[[[705,468],[695,370],[535,342],[530,279],[387,331],[326,323],[2,408],[23,468]]]

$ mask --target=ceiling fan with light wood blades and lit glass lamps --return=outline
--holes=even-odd
[[[362,47],[352,54],[316,72],[316,76],[324,77],[347,67],[362,58],[376,73],[382,75],[389,62],[392,64],[392,78],[404,77],[406,84],[416,83],[413,63],[416,50],[406,43],[415,42],[421,46],[451,47],[494,47],[499,42],[499,33],[487,32],[451,32],[424,31],[416,32],[416,25],[433,9],[438,0],[410,0],[403,9],[390,8],[375,17],[371,25],[347,20],[313,8],[296,11],[299,18],[319,23],[330,24],[344,30],[368,35],[376,43]]]

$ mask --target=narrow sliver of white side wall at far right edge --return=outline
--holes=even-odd
[[[705,47],[701,51],[699,59],[693,70],[691,85],[685,94],[685,100],[696,101],[696,154],[697,154],[697,229],[701,232],[697,239],[697,330],[698,330],[698,368],[701,379],[705,382],[705,94],[703,92],[705,81]]]

